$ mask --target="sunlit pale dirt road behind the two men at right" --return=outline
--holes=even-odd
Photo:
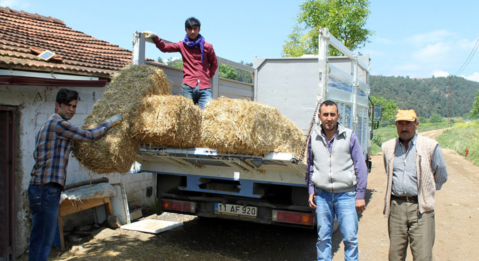
[[[425,132],[434,138],[442,130]],[[479,260],[479,167],[453,150],[442,149],[449,174],[448,181],[436,193],[436,238],[434,260]],[[361,260],[387,260],[388,234],[382,216],[386,176],[382,154],[373,156],[373,170],[368,176],[368,204],[359,221],[359,256]],[[342,248],[342,244],[341,244]],[[333,260],[344,260],[342,249]],[[406,260],[413,260],[408,253]]]

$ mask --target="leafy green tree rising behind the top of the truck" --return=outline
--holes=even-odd
[[[364,28],[370,14],[368,0],[306,0],[299,6],[297,24],[283,45],[283,56],[318,53],[318,31],[329,29],[350,50],[363,47],[373,35]],[[330,48],[330,55],[340,55]]]

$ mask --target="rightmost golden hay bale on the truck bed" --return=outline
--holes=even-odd
[[[303,132],[277,108],[220,97],[203,111],[201,138],[206,147],[220,153],[299,155]]]

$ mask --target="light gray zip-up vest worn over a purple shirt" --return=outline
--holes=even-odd
[[[353,131],[338,123],[338,133],[332,141],[331,153],[326,137],[318,126],[311,134],[314,186],[328,192],[341,193],[356,189],[356,174],[351,158],[350,143]]]

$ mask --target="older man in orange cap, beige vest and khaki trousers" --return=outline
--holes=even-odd
[[[416,134],[414,110],[398,109],[395,121],[399,137],[382,144],[389,260],[406,260],[408,244],[414,260],[433,260],[434,195],[447,181],[446,163],[438,142]]]

